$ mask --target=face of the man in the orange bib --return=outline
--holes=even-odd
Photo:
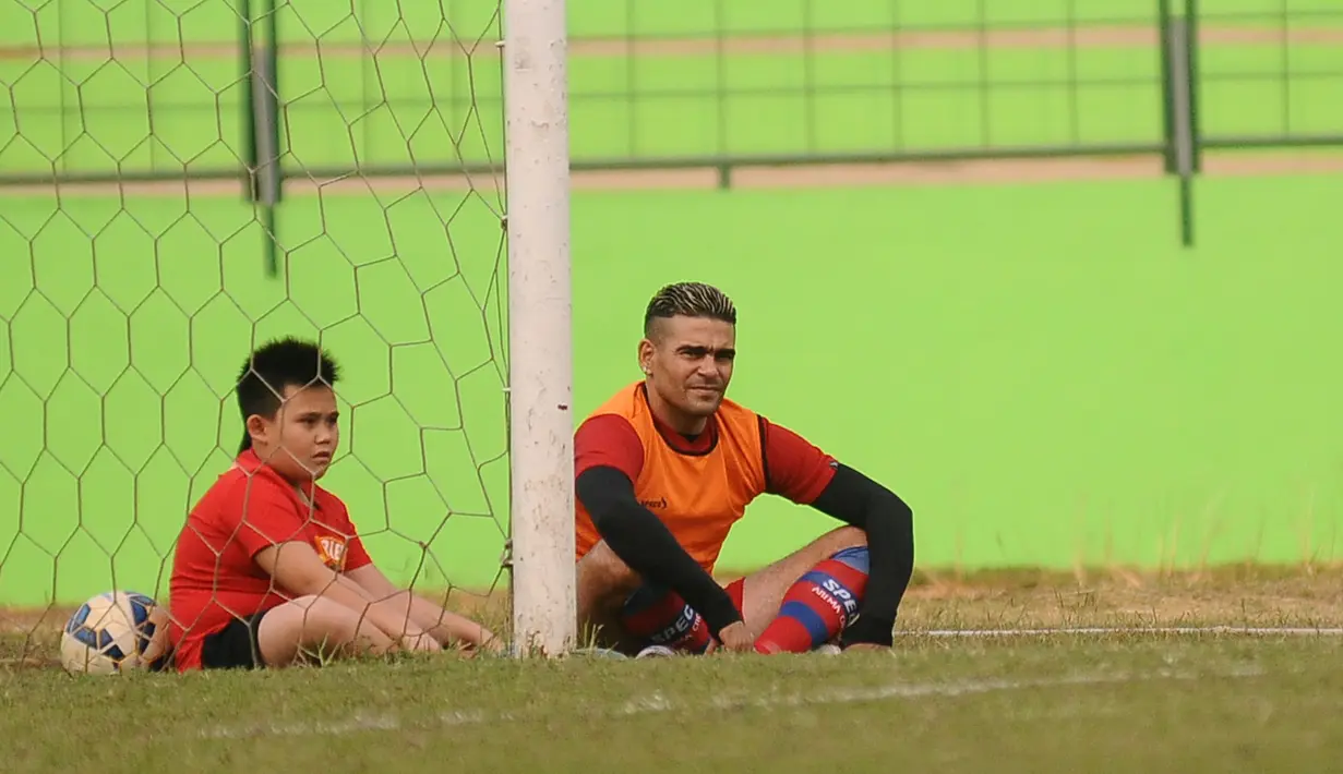
[[[666,404],[686,416],[708,417],[732,381],[736,339],[736,326],[720,319],[659,319],[639,342],[639,365]]]

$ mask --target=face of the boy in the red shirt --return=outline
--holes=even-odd
[[[294,483],[322,478],[340,443],[336,393],[325,385],[286,386],[274,417],[247,417],[262,461]]]

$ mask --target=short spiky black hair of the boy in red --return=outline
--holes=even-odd
[[[338,378],[336,361],[317,343],[294,337],[273,339],[254,350],[238,373],[238,409],[243,423],[252,414],[273,417],[287,388],[336,386]],[[251,435],[244,427],[238,451],[250,448]]]

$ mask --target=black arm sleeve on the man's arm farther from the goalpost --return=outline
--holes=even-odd
[[[843,641],[890,645],[915,569],[913,511],[886,487],[842,464],[811,504],[868,533],[868,593]]]

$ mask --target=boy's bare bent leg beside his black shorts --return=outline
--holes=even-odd
[[[250,626],[266,667],[287,667],[308,653],[381,655],[396,643],[367,616],[321,597],[299,597],[266,610]]]

